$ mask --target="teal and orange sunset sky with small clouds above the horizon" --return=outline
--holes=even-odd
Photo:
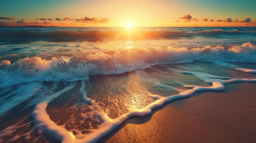
[[[256,0],[0,0],[0,26],[256,26]]]

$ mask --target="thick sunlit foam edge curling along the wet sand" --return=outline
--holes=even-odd
[[[198,74],[200,74],[200,73],[198,73]],[[197,75],[197,74],[193,73],[193,75]],[[204,77],[204,76],[206,76],[206,77]],[[209,75],[207,75],[207,74],[202,75],[200,77],[202,79],[209,79]],[[233,81],[229,80],[227,82],[233,82]],[[147,114],[150,114],[153,109],[155,109],[159,106],[162,106],[164,103],[173,101],[175,99],[189,97],[195,92],[207,91],[207,90],[223,90],[225,88],[222,83],[217,82],[216,80],[211,81],[211,83],[212,83],[212,86],[207,86],[207,87],[187,85],[185,87],[191,88],[191,89],[182,91],[182,92],[180,92],[180,94],[172,95],[169,97],[162,97],[159,95],[148,95],[148,96],[152,97],[153,99],[155,99],[155,102],[149,104],[148,106],[146,106],[145,108],[142,108],[142,109],[134,109],[132,107],[129,107],[127,113],[117,117],[116,119],[109,119],[103,111],[98,110],[96,108],[95,112],[97,112],[97,114],[101,118],[102,123],[96,131],[91,130],[92,132],[90,132],[89,134],[86,134],[84,136],[83,135],[73,135],[72,132],[65,130],[65,128],[63,128],[62,126],[58,126],[55,123],[53,123],[49,119],[49,117],[46,113],[46,110],[45,110],[45,108],[47,106],[47,102],[50,101],[50,100],[47,100],[47,102],[42,102],[36,106],[36,109],[34,111],[34,117],[36,119],[36,127],[39,126],[40,129],[43,130],[43,132],[47,132],[47,134],[53,135],[54,138],[61,140],[63,143],[72,143],[72,142],[95,143],[95,142],[99,141],[99,139],[101,139],[103,136],[106,136],[107,134],[112,132],[112,130],[117,128],[119,125],[121,125],[121,123],[123,123],[130,117],[145,116]],[[85,84],[82,84],[81,88],[80,88],[80,92],[82,92],[82,93],[85,92],[84,89],[85,89]],[[64,91],[61,91],[61,92],[64,92]],[[57,95],[59,95],[59,93]],[[55,95],[55,97],[56,97],[56,95]],[[53,99],[53,98],[51,98],[51,99]],[[92,101],[91,103],[95,106],[94,101]]]

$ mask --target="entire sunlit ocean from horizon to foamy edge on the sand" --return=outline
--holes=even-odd
[[[164,104],[256,82],[256,27],[0,27],[0,142],[106,141]]]

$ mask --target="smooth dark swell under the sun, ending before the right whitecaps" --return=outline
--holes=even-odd
[[[0,42],[177,39],[189,36],[188,33],[181,31],[12,31],[0,32]]]

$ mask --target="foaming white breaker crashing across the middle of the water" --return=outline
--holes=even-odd
[[[0,87],[33,81],[79,81],[93,75],[120,75],[134,70],[144,70],[161,64],[189,63],[194,60],[219,60],[230,62],[256,62],[256,46],[244,43],[206,46],[204,48],[138,48],[118,51],[52,57],[25,57],[12,63],[1,61]]]

